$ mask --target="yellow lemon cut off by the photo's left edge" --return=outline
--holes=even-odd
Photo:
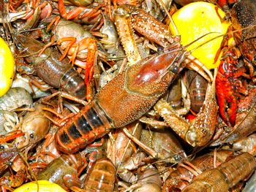
[[[15,74],[15,61],[10,48],[0,37],[0,96],[10,89]]]

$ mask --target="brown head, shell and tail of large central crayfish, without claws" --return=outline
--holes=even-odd
[[[105,85],[86,107],[56,132],[64,153],[75,153],[110,128],[120,128],[145,114],[186,65],[184,47],[177,42],[163,53],[150,55]]]

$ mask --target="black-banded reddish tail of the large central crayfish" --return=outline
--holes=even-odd
[[[55,134],[56,144],[63,153],[75,153],[108,134],[110,128],[113,128],[110,118],[94,100],[59,128]]]

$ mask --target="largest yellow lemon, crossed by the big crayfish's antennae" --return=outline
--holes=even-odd
[[[181,45],[188,45],[207,34],[206,37],[198,39],[187,48],[188,50],[193,50],[204,42],[221,34],[225,34],[228,26],[230,26],[230,22],[228,20],[222,22],[219,17],[224,18],[225,12],[217,8],[214,4],[203,1],[187,4],[181,7],[181,9],[178,9],[178,11],[173,14],[172,18],[178,29],[178,34],[181,35]],[[170,32],[176,35],[171,24]],[[219,60],[214,64],[214,58],[222,43],[222,39],[223,37],[218,37],[217,39],[207,42],[202,47],[194,50],[192,55],[208,69],[218,67]]]

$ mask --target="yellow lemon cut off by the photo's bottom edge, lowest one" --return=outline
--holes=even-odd
[[[38,185],[37,185],[38,182]],[[30,183],[21,185],[19,188],[16,188],[13,192],[66,192],[56,183],[50,183],[48,180],[38,180]],[[37,188],[39,186],[39,188]]]

